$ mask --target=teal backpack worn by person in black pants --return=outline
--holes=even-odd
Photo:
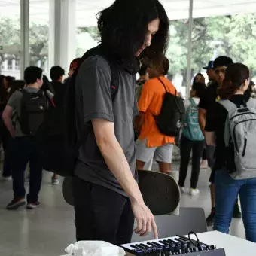
[[[203,141],[204,136],[198,123],[198,106],[194,99],[189,100],[182,134],[190,141]]]

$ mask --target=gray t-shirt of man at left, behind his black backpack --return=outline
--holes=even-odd
[[[25,90],[28,91],[29,93],[37,93],[39,91],[39,89],[35,87],[26,87]],[[17,117],[20,117],[22,97],[23,97],[23,93],[21,93],[20,90],[17,90],[11,96],[11,98],[7,103],[7,105],[13,109],[13,114],[15,113]],[[15,121],[15,137],[22,137],[22,136],[25,136],[25,134],[21,131],[20,122],[16,120]]]

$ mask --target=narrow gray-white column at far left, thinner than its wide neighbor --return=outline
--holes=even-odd
[[[20,78],[29,66],[29,0],[20,0]]]

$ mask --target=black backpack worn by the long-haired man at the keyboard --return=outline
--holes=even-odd
[[[56,108],[47,111],[42,136],[43,167],[45,170],[54,172],[63,177],[73,175],[79,149],[81,148],[82,143],[86,141],[88,133],[93,129],[91,123],[86,123],[84,125],[78,123],[78,112],[75,109],[75,78],[76,75],[78,75],[81,64],[90,56],[95,55],[104,57],[111,68],[110,87],[111,98],[114,101],[114,96],[119,87],[119,68],[115,62],[112,62],[111,56],[108,56],[101,45],[99,45],[98,47],[87,51],[87,53],[84,53],[78,68],[75,70],[72,77],[66,80],[64,84],[66,92],[62,110],[57,111],[56,108],[58,108],[58,106],[56,105]],[[54,122],[54,111],[57,113],[62,112],[62,129],[60,130],[58,124]],[[58,128],[54,129],[56,126],[58,126]],[[78,138],[78,126],[83,127],[81,130],[81,138]]]

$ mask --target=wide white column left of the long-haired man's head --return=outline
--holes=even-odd
[[[76,0],[50,1],[49,64],[62,66],[66,73],[75,59],[75,2]]]

